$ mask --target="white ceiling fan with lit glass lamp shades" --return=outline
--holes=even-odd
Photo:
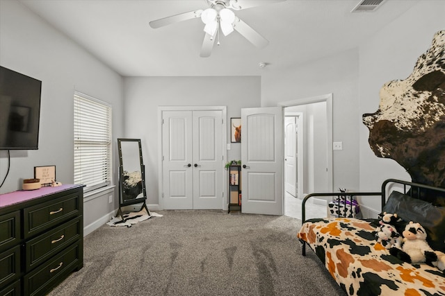
[[[180,13],[179,15],[172,15],[171,17],[164,17],[150,21],[149,25],[152,28],[160,28],[170,24],[175,24],[179,21],[186,21],[188,19],[201,18],[204,26],[204,41],[202,42],[200,56],[207,58],[211,55],[211,50],[218,37],[217,44],[219,45],[219,32],[221,31],[225,36],[233,31],[237,31],[245,39],[249,40],[254,46],[263,48],[269,42],[263,36],[254,31],[248,24],[245,24],[239,17],[236,17],[233,10],[242,10],[261,6],[268,3],[277,3],[286,0],[204,0],[209,8],[202,10],[193,10],[189,12]]]

